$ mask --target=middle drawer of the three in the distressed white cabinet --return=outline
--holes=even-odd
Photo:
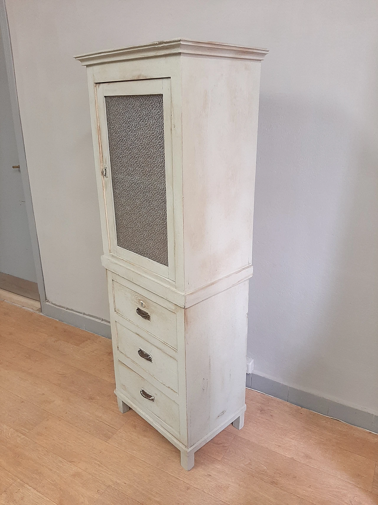
[[[116,328],[119,352],[177,393],[177,360],[119,322],[116,322]],[[122,361],[121,356],[119,359]]]

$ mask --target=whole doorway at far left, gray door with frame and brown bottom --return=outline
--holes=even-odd
[[[38,311],[45,301],[4,2],[0,5],[0,299]]]

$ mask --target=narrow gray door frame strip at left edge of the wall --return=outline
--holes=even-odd
[[[29,232],[30,232],[30,239],[31,239],[31,244],[32,244],[35,273],[36,273],[36,277],[37,277],[39,298],[41,301],[41,310],[42,310],[42,313],[44,313],[45,312],[44,305],[46,303],[46,291],[45,291],[45,283],[43,280],[41,255],[40,255],[40,251],[39,251],[37,228],[35,225],[33,202],[32,202],[32,196],[31,196],[31,191],[30,191],[28,167],[27,167],[27,163],[26,163],[24,136],[22,133],[20,108],[19,108],[18,95],[17,95],[16,74],[15,74],[15,67],[14,67],[14,62],[13,62],[12,42],[11,42],[11,35],[10,35],[10,31],[9,31],[7,7],[5,4],[5,0],[0,0],[0,29],[2,31],[3,42],[4,42],[5,64],[6,64],[6,68],[7,68],[8,82],[9,82],[10,95],[11,95],[11,108],[12,108],[13,124],[14,124],[14,128],[15,128],[16,145],[17,145],[17,153],[18,153],[19,163],[20,163],[22,186],[23,186],[24,195],[25,195],[25,207],[26,207],[26,214],[27,214],[28,224],[29,224]]]

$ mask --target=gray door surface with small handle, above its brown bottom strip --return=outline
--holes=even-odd
[[[0,31],[0,272],[36,282]]]

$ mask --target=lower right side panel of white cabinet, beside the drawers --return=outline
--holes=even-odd
[[[188,445],[245,402],[248,281],[185,309]]]

